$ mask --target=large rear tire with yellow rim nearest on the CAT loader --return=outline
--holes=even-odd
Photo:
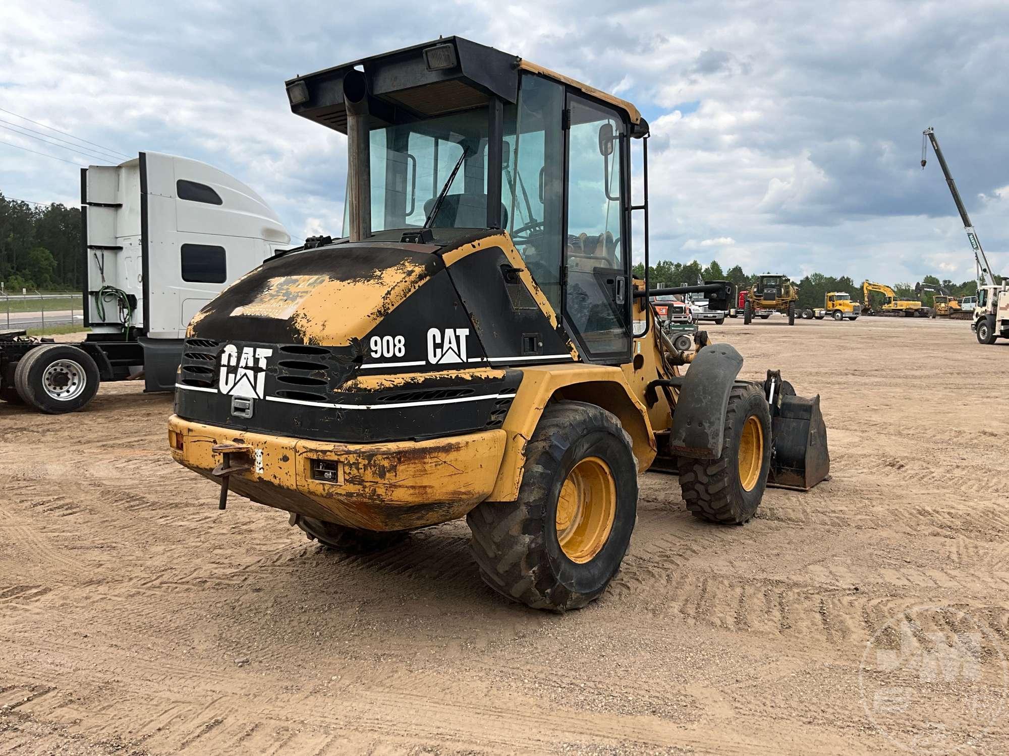
[[[597,599],[620,570],[638,512],[631,436],[594,404],[547,407],[514,502],[468,515],[480,577],[506,598],[564,612]]]

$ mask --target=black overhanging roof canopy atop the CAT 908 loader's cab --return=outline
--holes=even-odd
[[[292,112],[346,134],[343,81],[355,69],[364,72],[367,82],[372,126],[484,107],[491,97],[515,103],[519,96],[519,75],[526,71],[566,84],[624,111],[634,136],[648,133],[648,123],[626,100],[459,36],[443,37],[295,77],[287,82]]]

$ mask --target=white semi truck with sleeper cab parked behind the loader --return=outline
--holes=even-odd
[[[102,381],[173,391],[193,316],[291,237],[241,181],[199,160],[140,152],[81,170],[84,341],[0,332],[0,398],[61,413]]]

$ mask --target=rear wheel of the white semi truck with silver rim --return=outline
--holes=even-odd
[[[99,380],[91,355],[69,344],[36,347],[18,360],[14,370],[20,397],[48,414],[86,407],[98,393]]]

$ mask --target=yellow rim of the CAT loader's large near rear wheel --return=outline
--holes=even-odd
[[[609,466],[586,457],[568,473],[557,498],[557,540],[571,559],[584,563],[605,545],[616,514],[616,486]]]

